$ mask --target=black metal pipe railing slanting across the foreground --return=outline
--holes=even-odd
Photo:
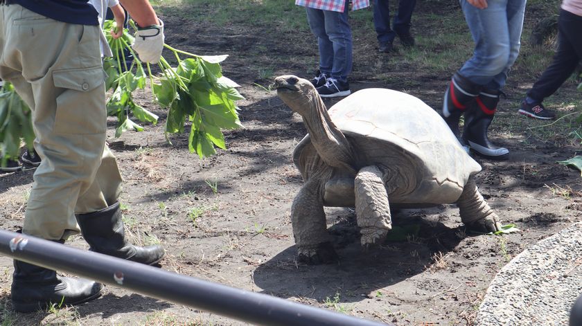
[[[0,254],[259,325],[386,325],[0,230]]]

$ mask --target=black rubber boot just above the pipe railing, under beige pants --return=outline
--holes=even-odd
[[[91,251],[148,265],[156,264],[164,257],[164,248],[159,245],[141,247],[127,243],[119,202],[76,217]]]

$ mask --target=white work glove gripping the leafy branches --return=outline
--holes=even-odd
[[[159,25],[137,27],[135,42],[132,45],[139,55],[139,60],[157,64],[164,49],[164,21],[159,20]]]

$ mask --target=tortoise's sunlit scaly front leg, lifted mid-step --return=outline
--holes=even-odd
[[[392,228],[388,194],[375,165],[363,167],[355,176],[355,214],[364,248],[379,244]]]

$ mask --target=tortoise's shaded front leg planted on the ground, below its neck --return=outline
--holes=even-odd
[[[337,261],[327,232],[323,189],[319,180],[307,181],[299,190],[291,206],[291,223],[300,262],[328,264]]]

